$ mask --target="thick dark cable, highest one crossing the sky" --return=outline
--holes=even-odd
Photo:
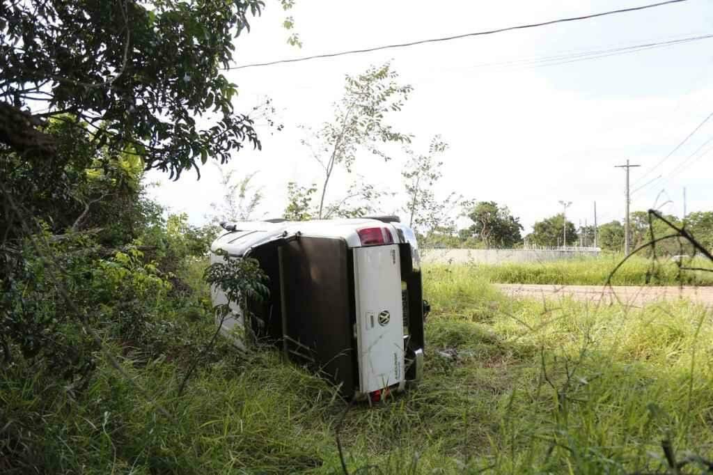
[[[486,30],[486,31],[476,31],[474,33],[466,33],[466,34],[453,35],[453,36],[442,36],[440,38],[425,39],[425,40],[419,40],[419,41],[410,41],[408,43],[389,44],[389,45],[384,45],[384,46],[374,46],[373,48],[352,49],[352,50],[348,50],[348,51],[339,51],[337,53],[315,54],[313,56],[302,56],[301,58],[279,59],[277,61],[267,61],[265,63],[244,64],[242,66],[231,66],[230,68],[227,68],[227,69],[231,70],[231,69],[257,68],[260,66],[272,66],[275,64],[284,64],[284,63],[297,63],[300,61],[309,61],[312,59],[319,59],[319,58],[334,58],[336,56],[347,56],[347,55],[359,54],[359,53],[371,53],[373,51],[382,51],[385,49],[392,49],[392,48],[405,48],[407,46],[416,46],[416,45],[428,44],[428,43],[438,43],[441,41],[451,41],[451,40],[455,40],[455,39],[463,39],[463,38],[468,38],[468,37],[472,37],[472,36],[484,36],[484,35],[491,35],[491,34],[496,34],[496,33],[503,33],[504,31],[530,29],[530,28],[536,28],[538,26],[548,26],[548,25],[553,25],[553,24],[558,24],[558,23],[565,23],[568,21],[580,21],[580,20],[593,19],[593,18],[597,18],[600,16],[615,15],[615,14],[628,13],[631,11],[652,9],[657,6],[677,4],[677,3],[681,3],[683,1],[688,1],[688,0],[667,0],[667,1],[661,1],[656,4],[632,6],[627,9],[603,11],[601,13],[583,15],[583,16],[571,16],[569,18],[556,19],[556,20],[550,20],[550,21],[542,21],[540,23],[525,24],[525,25],[518,25],[518,26],[507,26],[505,28],[498,28],[498,29],[492,29],[492,30]]]

